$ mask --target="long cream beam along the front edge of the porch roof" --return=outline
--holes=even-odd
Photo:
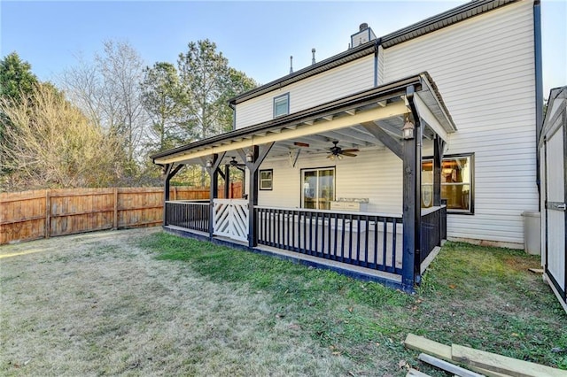
[[[212,146],[206,150],[198,150],[194,152],[187,152],[183,156],[156,158],[156,164],[170,164],[178,161],[187,161],[194,158],[203,156],[210,156],[214,153],[226,152],[229,150],[251,148],[252,145],[268,144],[270,142],[282,142],[290,139],[297,139],[299,137],[308,135],[321,135],[326,131],[332,131],[340,128],[351,127],[361,122],[369,122],[377,119],[391,118],[396,115],[403,115],[408,112],[408,108],[403,101],[398,101],[393,104],[388,104],[386,107],[377,107],[376,109],[367,112],[357,112],[353,116],[341,117],[329,121],[317,122],[313,125],[299,124],[296,129],[283,129],[279,134],[266,134],[266,135],[251,135],[249,140],[242,140],[240,142],[230,141],[228,144]],[[263,134],[263,133],[262,133]],[[240,136],[245,137],[245,136]]]

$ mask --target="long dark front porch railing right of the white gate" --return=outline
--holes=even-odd
[[[401,273],[401,216],[260,206],[254,215],[259,244]]]

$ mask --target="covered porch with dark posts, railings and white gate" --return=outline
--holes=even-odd
[[[172,233],[291,258],[412,291],[447,235],[440,174],[444,146],[448,134],[454,131],[433,81],[427,73],[420,73],[168,150],[152,156],[154,163],[163,165],[167,172],[164,227]],[[260,170],[275,161],[280,165],[285,161],[290,169],[301,160],[341,164],[343,156],[332,150],[332,142],[352,150],[347,152],[350,154],[360,151],[361,160],[382,157],[384,153],[400,160],[399,211],[380,212],[378,204],[358,205],[351,210],[353,205],[348,200],[346,205],[330,207],[325,201],[340,203],[342,199],[334,181],[335,186],[316,196],[313,205],[309,202],[313,199],[303,192],[299,205],[291,206],[290,201],[277,198],[268,205],[259,204],[266,202],[259,198],[268,196],[260,190],[260,185],[266,183]],[[432,196],[426,200],[427,208],[422,208],[423,148],[431,150],[434,165],[432,192],[424,193]],[[188,164],[206,168],[210,200],[169,200],[169,181]],[[231,168],[245,171],[244,198],[218,198],[222,190],[219,176],[228,185]],[[273,172],[277,173],[277,168]],[[381,176],[380,169],[370,173]],[[384,180],[388,179],[384,175]]]

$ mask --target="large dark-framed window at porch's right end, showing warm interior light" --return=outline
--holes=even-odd
[[[473,213],[473,155],[447,156],[441,164],[441,198],[447,211]],[[433,205],[433,160],[422,162],[422,207]]]

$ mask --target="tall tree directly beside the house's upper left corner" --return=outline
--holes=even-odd
[[[232,127],[230,96],[254,88],[256,83],[245,73],[229,67],[229,60],[216,51],[216,44],[190,42],[188,51],[177,62],[181,82],[189,98],[185,125],[195,138],[202,139]]]

